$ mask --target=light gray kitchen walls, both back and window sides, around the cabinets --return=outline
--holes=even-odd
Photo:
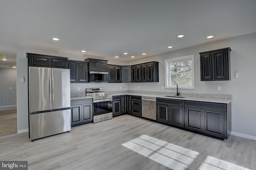
[[[230,47],[231,51],[231,80],[230,81],[200,81],[200,52],[210,51],[214,49],[221,49]],[[104,86],[107,91],[120,90],[140,90],[144,91],[166,91],[175,92],[175,89],[161,90],[161,86],[164,86],[164,60],[181,57],[186,55],[194,55],[194,68],[195,68],[195,89],[180,89],[180,92],[188,93],[211,93],[211,94],[232,94],[232,131],[235,133],[241,133],[245,135],[251,135],[256,137],[256,131],[254,127],[254,121],[256,120],[256,114],[254,111],[254,96],[256,90],[254,86],[256,84],[256,33],[242,35],[239,37],[233,37],[230,39],[224,39],[215,41],[212,43],[198,45],[186,49],[180,49],[169,53],[146,57],[144,59],[138,59],[122,64],[120,61],[110,61],[110,64],[130,65],[144,63],[147,61],[159,61],[159,82],[154,83],[106,83],[106,84],[72,84],[71,92],[76,93],[77,88],[80,87],[79,92],[84,92],[86,87],[91,86]],[[83,60],[84,56],[73,55],[68,53],[60,53],[56,51],[46,51],[40,49],[30,49],[25,47],[19,47],[17,50],[17,80],[20,80],[20,76],[27,75],[27,59],[26,52],[40,53],[46,55],[57,55],[63,57],[69,57],[70,59]],[[74,56],[74,57],[73,57]],[[239,78],[234,78],[234,71],[239,71]],[[25,78],[26,80],[26,78]],[[18,130],[28,128],[28,109],[27,109],[27,83],[17,82],[18,86]],[[222,87],[222,91],[217,91],[217,86]],[[143,87],[143,88],[142,88]]]

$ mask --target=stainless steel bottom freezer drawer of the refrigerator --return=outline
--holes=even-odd
[[[71,130],[70,109],[29,115],[30,140]]]

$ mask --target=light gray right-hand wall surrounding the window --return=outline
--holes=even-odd
[[[232,49],[230,51],[231,80],[200,81],[200,55],[198,53],[226,47]],[[254,109],[256,95],[256,33],[132,61],[129,64],[159,61],[159,82],[154,83],[154,85],[129,83],[128,90],[138,90],[138,86],[142,87],[143,85],[143,90],[146,91],[176,92],[176,89],[161,90],[161,86],[164,86],[164,60],[186,55],[194,55],[195,89],[180,89],[180,92],[232,94],[232,131],[256,137],[256,114]],[[236,70],[239,72],[239,78],[235,78]],[[222,91],[217,91],[217,86],[221,86]]]

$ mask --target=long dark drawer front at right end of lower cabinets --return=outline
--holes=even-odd
[[[185,101],[185,105],[189,107],[200,107],[205,109],[215,109],[215,110],[226,111],[226,104]]]

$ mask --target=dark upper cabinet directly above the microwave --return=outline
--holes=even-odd
[[[89,63],[89,71],[108,72],[108,61],[99,59],[85,59]]]

